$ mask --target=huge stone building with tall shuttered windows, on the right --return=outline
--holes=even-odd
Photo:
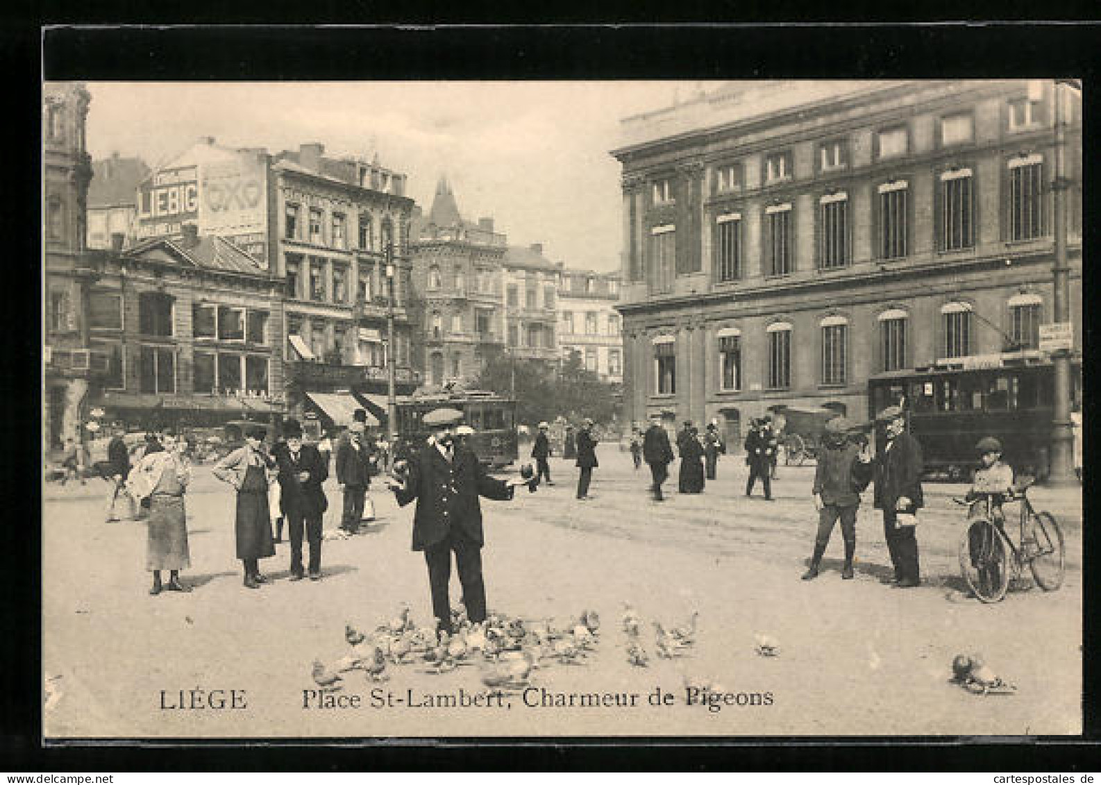
[[[1050,362],[1051,83],[734,84],[628,118],[625,415],[868,415],[918,368]],[[1081,357],[1081,113],[1069,109]]]

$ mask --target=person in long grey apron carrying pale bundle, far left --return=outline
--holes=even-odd
[[[127,479],[127,491],[149,510],[145,569],[153,574],[151,595],[165,588],[161,570],[168,571],[168,591],[190,591],[179,582],[179,570],[192,566],[187,548],[187,514],[184,493],[192,480],[192,470],[179,455],[176,435],[167,430],[161,447],[148,450]]]

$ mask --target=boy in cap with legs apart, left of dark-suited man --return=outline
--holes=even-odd
[[[844,539],[841,578],[852,579],[852,556],[857,552],[857,510],[860,508],[860,491],[872,479],[872,467],[866,447],[861,449],[849,438],[851,428],[852,424],[844,417],[835,417],[826,423],[824,449],[818,454],[815,483],[810,491],[815,497],[815,510],[818,511],[818,534],[815,537],[810,567],[803,575],[804,580],[818,577],[818,566],[838,519],[841,521],[841,536]]]

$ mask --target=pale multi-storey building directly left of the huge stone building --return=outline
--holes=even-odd
[[[623,381],[620,274],[564,269],[558,277],[558,345],[563,359],[577,352],[581,366],[606,382]]]

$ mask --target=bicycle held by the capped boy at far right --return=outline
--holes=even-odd
[[[1021,502],[1018,545],[995,521],[995,500]],[[1025,566],[1044,591],[1062,586],[1066,549],[1062,532],[1051,513],[1036,511],[1028,500],[1028,486],[1009,492],[975,491],[967,499],[953,499],[969,505],[968,526],[960,539],[960,570],[968,588],[982,602],[1000,602],[1012,577],[1023,575]],[[1009,568],[1007,568],[1009,567]]]

